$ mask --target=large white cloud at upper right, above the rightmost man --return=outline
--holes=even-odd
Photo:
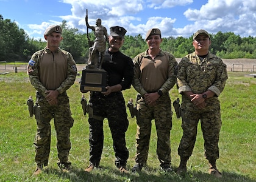
[[[199,9],[189,8],[184,15],[194,23],[187,25],[182,32],[196,32],[197,29],[205,29],[208,32],[234,32],[236,35],[254,35],[255,1],[242,0],[209,0]],[[189,27],[189,29],[188,29]]]

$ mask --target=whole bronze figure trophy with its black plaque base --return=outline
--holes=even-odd
[[[89,42],[89,56],[88,65],[82,70],[82,79],[80,82],[80,91],[97,91],[105,92],[107,86],[107,72],[101,68],[102,61],[104,59],[104,53],[107,42],[107,29],[101,25],[101,19],[96,19],[96,26],[90,26],[88,24],[88,10],[85,16],[85,22],[87,25],[87,38]],[[94,31],[95,40],[90,41],[88,36],[88,29]]]

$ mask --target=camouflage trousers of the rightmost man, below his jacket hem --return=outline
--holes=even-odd
[[[221,113],[216,102],[205,109],[182,110],[183,136],[180,140],[178,153],[180,157],[190,157],[196,142],[197,124],[201,121],[204,137],[204,153],[207,160],[219,158],[219,132],[221,130]]]

